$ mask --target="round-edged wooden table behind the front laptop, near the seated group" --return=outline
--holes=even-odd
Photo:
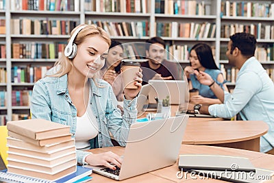
[[[260,151],[260,136],[269,126],[264,121],[188,121],[183,144],[214,145]]]

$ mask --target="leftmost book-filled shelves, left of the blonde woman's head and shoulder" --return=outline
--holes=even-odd
[[[3,47],[5,44],[2,46],[0,42],[0,53],[1,58],[4,52],[9,56],[3,62],[6,62],[6,86],[10,93],[5,94],[5,107],[0,108],[6,115],[5,120],[1,119],[2,125],[7,120],[29,118],[34,83],[60,58],[71,30],[80,23],[79,1],[5,1],[8,11],[3,12],[3,16],[10,17],[5,20],[10,25],[10,32],[4,33],[3,38],[10,42],[10,46]],[[0,12],[0,35],[1,25]],[[4,87],[0,86],[0,89],[5,91]]]

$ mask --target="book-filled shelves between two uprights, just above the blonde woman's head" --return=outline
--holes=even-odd
[[[85,23],[102,27],[116,40],[146,40],[149,33],[149,4],[142,1],[85,1]]]

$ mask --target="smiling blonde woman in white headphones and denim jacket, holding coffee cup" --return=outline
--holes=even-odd
[[[142,87],[142,73],[136,73],[137,89],[125,89],[123,117],[114,105],[112,87],[99,80],[105,64],[110,38],[100,27],[78,25],[71,32],[64,55],[55,63],[55,73],[42,78],[32,93],[32,118],[46,119],[71,126],[79,164],[121,167],[121,158],[112,152],[91,154],[82,151],[113,146],[114,139],[125,146],[129,127],[136,122],[136,95]],[[112,164],[110,164],[112,163]]]

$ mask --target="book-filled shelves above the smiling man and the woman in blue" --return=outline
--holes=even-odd
[[[189,64],[189,50],[206,42],[215,49],[217,1],[155,0],[155,29],[153,35],[166,40],[168,59]],[[215,53],[214,53],[215,54]]]

